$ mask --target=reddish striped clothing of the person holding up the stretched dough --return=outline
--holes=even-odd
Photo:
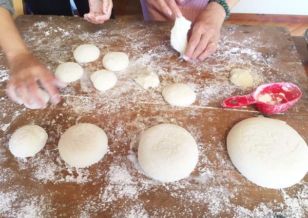
[[[193,22],[202,12],[208,0],[175,0],[183,16]],[[140,0],[145,21],[174,21],[174,14],[167,14],[157,0]]]

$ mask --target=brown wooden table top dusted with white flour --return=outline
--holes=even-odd
[[[263,114],[254,106],[223,109],[222,100],[249,93],[263,83],[282,81],[298,85],[303,97],[286,112],[269,117],[286,121],[307,141],[307,77],[286,29],[223,26],[217,53],[204,62],[187,63],[169,45],[169,22],[115,20],[92,25],[78,17],[25,15],[16,24],[33,55],[51,70],[60,62],[73,61],[72,51],[81,44],[97,45],[101,56],[83,64],[83,77],[61,91],[60,104],[29,110],[5,95],[8,66],[1,53],[0,216],[308,216],[308,176],[291,188],[261,188],[235,169],[225,143],[236,123]],[[109,51],[126,52],[130,65],[116,72],[118,83],[113,89],[99,92],[89,75],[103,68],[102,57]],[[233,68],[251,69],[254,86],[242,89],[230,84]],[[147,71],[159,75],[157,89],[143,90],[133,82]],[[188,83],[197,92],[196,102],[189,107],[168,105],[161,90],[171,82]],[[9,137],[31,123],[47,131],[47,145],[34,157],[18,160],[9,152]],[[85,169],[67,166],[57,151],[61,134],[76,123],[95,124],[108,136],[108,153]],[[159,123],[184,127],[198,144],[198,165],[184,180],[162,184],[147,177],[138,164],[141,132]]]

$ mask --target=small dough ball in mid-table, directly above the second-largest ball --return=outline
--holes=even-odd
[[[196,100],[196,92],[184,83],[173,83],[164,87],[162,95],[170,105],[186,106]]]

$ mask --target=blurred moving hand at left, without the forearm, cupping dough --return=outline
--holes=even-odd
[[[48,92],[53,104],[61,101],[56,88],[64,88],[66,84],[59,82],[45,66],[41,65],[30,53],[23,53],[9,60],[10,79],[7,83],[7,94],[18,104],[46,105],[38,87],[39,82]]]

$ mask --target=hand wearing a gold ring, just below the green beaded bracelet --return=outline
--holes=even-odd
[[[199,14],[188,33],[186,61],[203,61],[216,52],[224,17],[225,10],[216,2],[209,3]]]

